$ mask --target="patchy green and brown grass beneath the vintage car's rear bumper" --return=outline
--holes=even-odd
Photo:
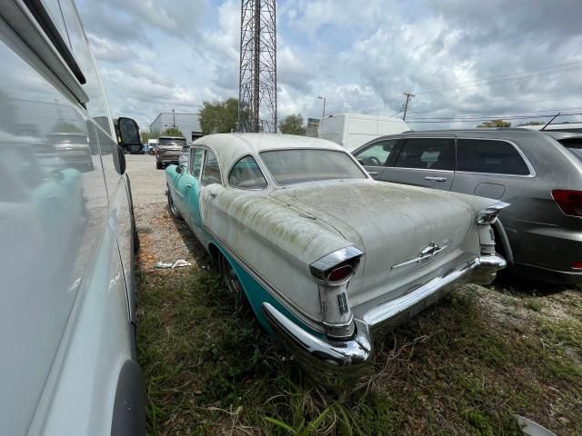
[[[328,391],[235,307],[213,270],[139,274],[150,434],[518,435],[513,413],[582,433],[579,319],[517,332],[453,292],[376,343],[371,377]]]

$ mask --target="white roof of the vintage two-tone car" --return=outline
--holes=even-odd
[[[346,152],[339,144],[326,139],[296,134],[208,134],[196,139],[192,146],[207,145],[216,154],[223,168],[230,168],[245,154],[288,148],[324,148]]]

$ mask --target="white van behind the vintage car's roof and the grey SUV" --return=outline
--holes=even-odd
[[[329,115],[319,122],[317,136],[333,141],[346,148],[356,150],[378,136],[401,134],[410,130],[400,118],[363,114]]]

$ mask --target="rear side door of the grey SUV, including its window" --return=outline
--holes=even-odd
[[[392,159],[390,159],[392,161]],[[448,191],[455,177],[455,138],[406,138],[393,166],[378,175],[384,182]]]

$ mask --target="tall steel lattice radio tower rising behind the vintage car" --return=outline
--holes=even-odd
[[[276,133],[275,0],[242,0],[238,130]]]

